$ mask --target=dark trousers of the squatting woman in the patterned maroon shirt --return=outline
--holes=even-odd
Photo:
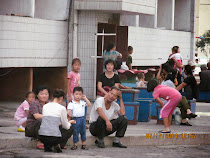
[[[39,139],[39,128],[41,126],[42,119],[36,120],[34,124],[29,128],[26,126],[25,128],[25,136],[26,137],[33,137],[35,139]]]

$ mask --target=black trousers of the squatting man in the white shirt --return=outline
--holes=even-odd
[[[97,121],[90,124],[90,133],[99,139],[103,139],[116,131],[116,137],[124,137],[128,120],[124,116],[120,116],[110,122],[112,124],[112,131],[107,131],[106,122],[101,117],[98,117]]]

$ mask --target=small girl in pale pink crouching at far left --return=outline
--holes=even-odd
[[[26,93],[26,100],[17,108],[14,116],[18,132],[25,132],[26,120],[30,104],[35,100],[34,92]]]

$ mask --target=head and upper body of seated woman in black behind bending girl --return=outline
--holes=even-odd
[[[190,65],[186,65],[184,72],[187,77],[178,87],[176,87],[176,89],[180,91],[182,90],[182,88],[184,88],[184,92],[182,92],[182,95],[185,96],[187,100],[192,100],[193,98],[197,99],[198,86],[197,81],[195,80],[195,77],[192,73],[192,67]]]

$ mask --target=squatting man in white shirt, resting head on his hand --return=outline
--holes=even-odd
[[[119,97],[120,105],[115,100]],[[118,116],[120,114],[120,116]],[[122,100],[121,90],[112,87],[104,97],[97,98],[90,112],[90,133],[96,136],[95,141],[99,148],[105,148],[104,137],[114,133],[113,147],[126,148],[120,138],[124,137],[128,121],[124,117],[125,107]]]

